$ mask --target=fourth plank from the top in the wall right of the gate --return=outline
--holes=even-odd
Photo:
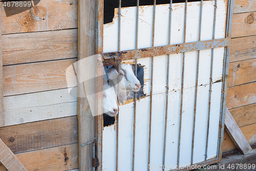
[[[229,64],[228,87],[256,81],[256,59]],[[248,74],[250,73],[250,74]]]

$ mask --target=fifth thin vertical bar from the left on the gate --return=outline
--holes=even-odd
[[[187,21],[187,0],[185,1],[185,16],[184,16],[184,33],[183,43],[186,42],[186,21]],[[181,122],[182,122],[182,106],[183,106],[183,88],[184,88],[184,65],[185,65],[185,52],[182,56],[182,79],[181,79],[181,96],[180,96],[180,124],[179,124],[179,142],[178,142],[178,157],[177,166],[180,165],[180,139],[181,139]]]

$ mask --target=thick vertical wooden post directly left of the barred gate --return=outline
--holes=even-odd
[[[78,61],[95,54],[96,47],[96,0],[78,0]],[[90,74],[95,74],[96,61],[90,61],[86,66],[79,66],[78,63],[78,80],[88,78]],[[85,67],[85,68],[82,68]],[[82,71],[85,71],[82,73]],[[92,158],[95,136],[95,117],[92,116],[91,110],[95,106],[89,106],[86,97],[83,96],[85,88],[95,92],[95,85],[86,82],[78,84],[78,131],[79,131],[79,170],[93,170]],[[83,97],[82,97],[83,96]],[[91,110],[90,110],[91,108]]]

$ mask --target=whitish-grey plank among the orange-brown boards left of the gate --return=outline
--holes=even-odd
[[[17,125],[77,115],[77,98],[68,89],[4,97],[5,125]]]

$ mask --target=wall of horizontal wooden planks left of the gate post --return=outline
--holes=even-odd
[[[65,77],[77,61],[77,20],[77,0],[41,0],[9,17],[1,3],[0,138],[28,170],[78,170],[77,98],[69,96]],[[0,170],[6,170],[1,163]]]

